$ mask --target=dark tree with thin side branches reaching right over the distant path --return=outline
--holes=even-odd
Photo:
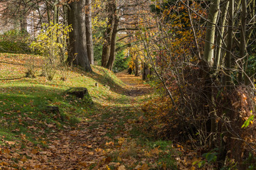
[[[102,47],[103,67],[112,70],[116,58],[117,41],[132,37],[134,31],[139,30],[139,16],[145,6],[149,7],[149,0],[107,1],[107,28],[105,28],[103,35],[105,42]],[[131,47],[131,45],[132,42],[128,42],[127,45],[118,47],[118,49]]]

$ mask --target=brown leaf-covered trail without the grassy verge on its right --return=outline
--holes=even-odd
[[[78,128],[73,130],[66,128],[58,134],[55,132],[49,134],[51,143],[49,148],[38,152],[32,157],[30,163],[24,165],[31,164],[31,167],[38,165],[37,169],[107,169],[106,164],[112,160],[105,150],[114,147],[110,141],[129,137],[127,130],[131,129],[131,125],[124,123],[125,128],[120,130],[123,127],[118,123],[124,119],[124,115],[127,115],[126,112],[136,112],[134,110],[137,110],[137,107],[129,106],[131,100],[134,104],[135,96],[142,96],[150,91],[150,86],[144,84],[140,77],[134,77],[125,72],[117,74],[117,77],[127,84],[125,92],[129,97],[126,101],[122,101],[123,103],[117,108],[98,108],[93,118],[80,123]],[[98,123],[98,120],[102,120],[104,112],[109,112],[108,118],[104,123]],[[114,130],[119,130],[116,136],[112,138],[106,136]],[[119,166],[119,164],[112,164]]]

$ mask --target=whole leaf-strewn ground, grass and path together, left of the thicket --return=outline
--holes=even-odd
[[[10,56],[4,57],[8,59]],[[0,60],[2,71],[4,66],[10,67],[5,64],[11,64],[15,65],[13,69],[18,68],[18,72],[23,72],[22,63],[5,61]],[[117,78],[124,82],[122,87],[117,84],[109,84],[110,89],[102,85],[95,87],[95,81],[102,83],[102,78],[106,76],[100,77],[100,72],[104,71],[100,67],[95,67],[94,71],[95,74],[88,74],[93,81],[87,79],[87,88],[91,88],[95,104],[92,109],[87,110],[82,108],[84,106],[79,101],[72,101],[70,105],[62,101],[63,97],[56,90],[65,87],[62,82],[42,83],[45,81],[41,82],[41,78],[3,81],[6,84],[0,89],[3,94],[0,95],[3,106],[3,110],[0,109],[1,124],[4,125],[0,127],[0,169],[197,169],[194,162],[201,161],[201,158],[198,158],[196,152],[177,143],[174,145],[169,140],[155,140],[146,135],[142,106],[154,97],[154,91],[148,84],[140,77],[122,72],[117,74]],[[77,79],[78,75],[80,73],[70,76],[70,79]],[[112,75],[107,75],[108,81],[111,77]],[[76,80],[76,83],[80,79],[84,77]],[[36,83],[33,82],[30,86],[28,81]],[[23,87],[25,84],[26,87]],[[73,86],[81,84],[74,83]],[[37,91],[33,88],[37,88]],[[43,96],[47,91],[48,95],[55,96]],[[38,98],[32,98],[25,96],[26,93],[42,94]],[[46,101],[43,101],[44,98]],[[37,100],[40,102],[37,103]],[[46,113],[33,115],[42,103],[45,105],[44,102],[57,106],[67,105],[63,111],[69,114],[65,118],[70,123],[58,122],[55,117]],[[75,104],[78,106],[73,106]],[[28,105],[30,106],[26,108]],[[36,110],[30,111],[31,107]],[[78,113],[80,123],[72,117]]]

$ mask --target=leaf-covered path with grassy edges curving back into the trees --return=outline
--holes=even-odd
[[[142,150],[133,142],[139,135],[133,126],[142,121],[141,106],[148,98],[150,86],[141,77],[126,72],[118,73],[117,77],[127,84],[125,95],[107,104],[97,104],[95,112],[78,128],[48,134],[50,146],[32,157],[31,167],[36,164],[37,169],[124,170],[137,166],[138,160],[130,154],[138,153],[129,148],[132,145],[136,151]]]

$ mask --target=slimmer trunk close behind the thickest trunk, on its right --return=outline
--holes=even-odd
[[[92,0],[86,0],[85,5],[85,24],[86,24],[86,41],[87,54],[90,64],[94,64],[93,41],[92,41]]]

